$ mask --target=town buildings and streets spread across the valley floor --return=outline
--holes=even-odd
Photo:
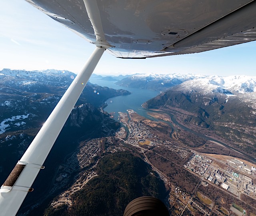
[[[122,128],[116,132],[116,136],[81,142],[72,156],[59,167],[51,193],[62,188],[72,179],[75,181],[68,190],[62,192],[52,202],[51,205],[54,208],[62,204],[72,205],[72,194],[82,189],[90,179],[97,176],[95,167],[98,159],[104,156],[105,153],[124,151],[127,149],[125,145],[128,145],[130,148],[136,148],[141,153],[142,158],[152,166],[152,169],[159,174],[166,186],[170,188],[168,203],[173,210],[172,215],[186,215],[188,212],[192,215],[201,213],[224,216],[231,212],[236,215],[247,214],[247,209],[236,203],[232,204],[230,209],[216,205],[216,201],[214,202],[201,191],[199,192],[198,188],[200,186],[207,188],[211,185],[238,199],[242,198],[241,194],[245,194],[254,200],[256,198],[254,186],[256,170],[252,164],[239,158],[214,158],[214,155],[201,154],[180,145],[174,140],[158,138],[157,134],[154,134],[147,124],[143,124],[138,118],[133,117],[135,114],[133,110],[127,111],[128,113],[119,113]],[[154,125],[155,123],[150,122],[150,124]],[[164,172],[150,162],[147,152],[161,156],[161,153],[156,152],[155,149],[175,152],[182,160],[186,160],[182,168],[200,177],[200,182],[192,193],[177,187],[175,182],[171,182]],[[166,158],[165,156],[162,157]],[[251,214],[251,216],[254,215]]]

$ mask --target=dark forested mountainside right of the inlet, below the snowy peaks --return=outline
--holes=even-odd
[[[169,90],[146,102],[144,107],[170,112],[187,128],[224,139],[232,148],[255,158],[254,93],[231,97],[226,102],[227,96],[220,93]],[[241,101],[249,97],[248,102]]]

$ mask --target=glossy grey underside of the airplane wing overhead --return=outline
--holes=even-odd
[[[83,0],[27,0],[96,43]],[[108,52],[148,58],[214,50],[256,40],[255,0],[96,0]]]

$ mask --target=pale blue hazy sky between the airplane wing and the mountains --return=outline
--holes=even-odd
[[[95,45],[25,0],[0,0],[0,70],[58,69],[78,73]],[[256,76],[256,42],[198,54],[120,59],[105,52],[95,74],[135,73]]]

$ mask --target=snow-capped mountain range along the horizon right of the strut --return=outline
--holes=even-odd
[[[202,74],[133,74],[126,76],[99,76],[99,80],[116,81],[117,85],[130,88],[144,88],[164,92],[173,86],[205,92],[243,94],[256,91],[256,76],[206,76]],[[121,79],[120,79],[121,78]]]

